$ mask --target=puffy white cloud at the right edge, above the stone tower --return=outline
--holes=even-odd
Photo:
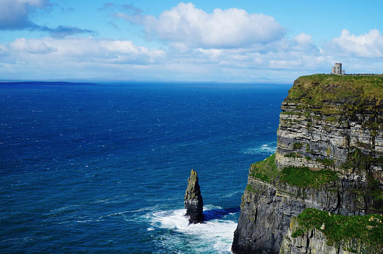
[[[343,56],[383,57],[383,36],[378,29],[358,36],[343,29],[341,35],[327,45],[327,50],[336,55],[343,53]]]

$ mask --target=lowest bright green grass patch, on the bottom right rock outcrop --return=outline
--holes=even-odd
[[[383,248],[383,215],[370,214],[364,216],[343,216],[329,212],[307,208],[297,217],[300,229],[315,227],[326,236],[326,243],[334,245],[340,241],[356,239],[363,244]],[[296,232],[296,233],[295,233]],[[293,237],[303,234],[295,230]]]

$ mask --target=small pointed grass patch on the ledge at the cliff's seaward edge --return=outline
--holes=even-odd
[[[265,160],[253,163],[250,166],[249,175],[270,183],[279,175],[275,165],[275,154],[267,157]]]

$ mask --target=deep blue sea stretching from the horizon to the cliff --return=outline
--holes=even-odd
[[[230,253],[290,87],[0,84],[0,251]],[[188,226],[191,169],[206,221]]]

